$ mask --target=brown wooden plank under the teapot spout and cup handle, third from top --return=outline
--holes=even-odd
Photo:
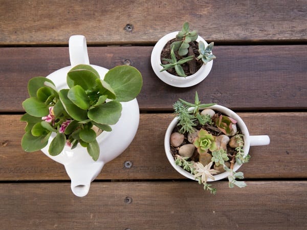
[[[271,139],[268,146],[250,148],[252,158],[240,168],[246,178],[307,177],[306,112],[238,114],[251,135],[267,134]],[[142,113],[134,141],[104,166],[97,179],[184,178],[170,166],[164,152],[164,134],[173,117],[171,113]],[[19,118],[0,115],[0,180],[69,179],[64,167],[45,154],[21,150],[25,124]],[[124,166],[126,161],[132,164],[130,168]]]

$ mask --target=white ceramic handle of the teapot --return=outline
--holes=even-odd
[[[69,57],[72,67],[78,64],[90,64],[86,39],[83,35],[74,35],[69,38]]]

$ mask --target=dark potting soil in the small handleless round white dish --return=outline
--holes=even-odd
[[[161,63],[162,64],[168,64],[167,61],[163,61],[162,60],[163,58],[171,59],[171,57],[170,57],[170,50],[171,50],[170,49],[170,44],[172,42],[174,42],[174,41],[176,41],[176,38],[168,41],[166,43],[166,45],[164,46],[164,48],[163,48],[163,50],[161,52]],[[192,56],[193,55],[194,59],[181,65],[185,75],[187,75],[187,76],[195,74],[201,68],[201,66],[203,65],[202,60],[196,60],[196,57],[198,57],[200,55],[199,52],[198,52],[198,49],[199,49],[198,48],[198,42],[191,41],[189,44],[190,44],[189,53],[186,56],[184,56],[184,57],[188,57],[188,56]],[[180,59],[184,58],[184,57],[179,56],[177,51],[175,51],[174,53],[176,55],[177,61],[179,61]],[[180,77],[176,73],[174,68],[171,68],[171,69],[167,70],[167,72],[172,74],[172,75]]]

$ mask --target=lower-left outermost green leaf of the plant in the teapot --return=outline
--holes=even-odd
[[[21,147],[26,152],[38,151],[48,144],[50,134],[51,132],[43,136],[33,136],[31,131],[27,131],[21,139]]]

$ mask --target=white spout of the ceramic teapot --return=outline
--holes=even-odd
[[[91,182],[98,176],[103,166],[103,162],[65,165],[65,170],[71,178],[72,192],[79,197],[86,196],[89,193]]]

